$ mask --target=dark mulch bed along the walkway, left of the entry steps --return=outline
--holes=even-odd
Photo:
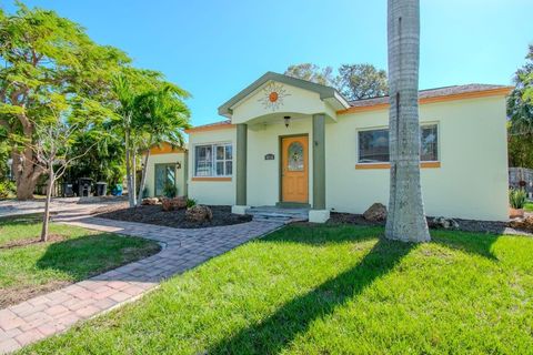
[[[121,207],[122,206],[122,207]],[[113,205],[99,213],[99,217],[155,224],[174,229],[203,229],[210,226],[232,225],[250,222],[252,216],[231,213],[230,206],[210,206],[213,219],[204,222],[190,222],[185,220],[185,210],[163,212],[161,205],[147,205],[129,209],[128,205]],[[101,212],[101,210],[99,211]]]

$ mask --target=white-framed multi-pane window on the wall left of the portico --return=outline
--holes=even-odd
[[[231,176],[233,174],[232,145],[197,145],[194,164],[194,176]]]

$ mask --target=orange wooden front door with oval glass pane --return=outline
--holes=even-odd
[[[309,202],[308,136],[281,139],[281,197],[283,202]]]

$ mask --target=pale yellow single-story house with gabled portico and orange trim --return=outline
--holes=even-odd
[[[507,220],[505,97],[469,84],[420,92],[428,215]],[[188,130],[189,195],[205,204],[363,213],[388,204],[389,98],[349,102],[335,89],[268,72]]]

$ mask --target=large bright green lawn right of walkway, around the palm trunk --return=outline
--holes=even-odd
[[[26,354],[533,352],[533,239],[293,225]]]

